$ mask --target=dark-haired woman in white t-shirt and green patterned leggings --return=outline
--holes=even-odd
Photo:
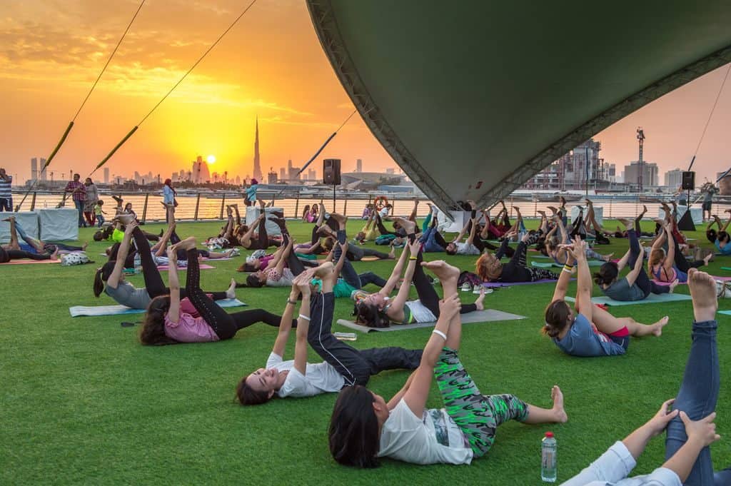
[[[330,452],[338,463],[372,468],[379,457],[416,464],[469,464],[485,455],[496,428],[508,419],[535,424],[566,422],[564,397],[554,386],[553,408],[529,405],[514,395],[482,395],[457,355],[462,333],[457,292],[459,269],[424,262],[442,281],[439,320],[426,343],[421,364],[386,402],[366,387],[346,387],[330,419]],[[432,376],[444,409],[425,409]]]

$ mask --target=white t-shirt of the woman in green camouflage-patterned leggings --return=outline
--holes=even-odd
[[[402,398],[381,429],[379,457],[414,464],[469,464],[472,449],[444,409],[424,409],[417,417]]]

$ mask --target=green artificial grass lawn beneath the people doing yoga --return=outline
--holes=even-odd
[[[349,222],[349,234],[361,225]],[[309,225],[289,226],[295,238],[308,240]],[[202,240],[219,227],[216,222],[180,224],[178,232]],[[145,227],[161,228],[161,224]],[[91,240],[92,232],[81,229],[80,238]],[[702,232],[689,236],[708,245]],[[611,245],[597,248],[601,253],[614,251],[618,257],[626,247],[627,240],[612,239]],[[148,347],[137,341],[139,325],[120,326],[122,321],[141,320],[141,315],[72,319],[71,305],[113,303],[106,295],[96,299],[91,292],[103,248],[103,243],[89,245],[94,265],[0,265],[4,293],[0,484],[530,485],[540,482],[540,441],[547,430],[558,440],[561,482],[652,417],[663,400],[675,396],[690,344],[690,302],[629,305],[610,311],[640,322],[669,315],[662,337],[633,339],[621,357],[569,357],[539,333],[553,284],[498,289],[485,304],[528,319],[464,327],[463,363],[482,392],[511,392],[538,406],[550,406],[550,387],[559,384],[569,422],[502,425],[493,449],[471,466],[383,460],[377,470],[357,471],[338,466],[327,449],[335,394],[246,408],[235,403],[239,379],[265,365],[275,328],[256,324],[230,341]],[[446,259],[463,269],[474,267],[474,257]],[[244,274],[235,272],[242,262],[243,257],[210,262],[216,270],[201,272],[202,287],[223,290],[232,276],[243,281]],[[359,271],[373,270],[384,277],[392,265],[355,263]],[[721,265],[728,265],[726,259],[716,257],[708,270],[731,275]],[[141,275],[128,278],[143,286]],[[237,295],[249,308],[279,314],[288,292],[238,289]],[[575,283],[569,292],[575,292]],[[679,286],[678,292],[688,292],[687,286]],[[595,294],[599,295],[598,289]],[[414,289],[412,295],[416,297]],[[466,302],[476,297],[462,296]],[[731,301],[721,301],[720,308],[731,308]],[[351,311],[352,303],[340,299],[335,319],[349,318]],[[730,324],[729,316],[719,316],[721,393],[716,423],[721,436],[731,430],[731,390],[725,379],[730,368],[725,353]],[[333,330],[347,329],[335,325]],[[429,335],[428,329],[358,334],[354,345],[421,348]],[[293,346],[292,338],[287,359]],[[319,358],[311,352],[311,360]],[[407,376],[406,371],[382,373],[371,379],[369,387],[390,398]],[[428,406],[442,406],[436,387]],[[716,468],[731,463],[730,444],[724,438],[713,445]],[[635,474],[652,471],[663,457],[664,441],[656,438]]]

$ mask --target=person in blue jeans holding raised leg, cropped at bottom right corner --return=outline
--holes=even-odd
[[[721,385],[716,345],[716,282],[708,273],[691,268],[688,285],[694,320],[678,395],[666,400],[645,425],[616,442],[591,466],[564,482],[564,486],[731,485],[731,468],[713,473],[709,447],[720,438],[713,422]],[[650,439],[663,430],[665,462],[650,474],[628,478]]]

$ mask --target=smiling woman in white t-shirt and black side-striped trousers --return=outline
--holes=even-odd
[[[295,278],[266,368],[250,373],[238,384],[236,395],[242,405],[266,403],[275,395],[279,398],[301,398],[337,392],[346,384],[366,384],[371,375],[383,370],[417,368],[421,349],[387,347],[359,350],[338,341],[333,335],[330,330],[335,311],[333,286],[338,273],[332,262],[325,262]],[[322,293],[311,297],[310,281],[313,277],[322,279]],[[295,359],[284,361],[284,348],[300,293],[302,303],[297,320]],[[307,362],[308,343],[324,362]]]

